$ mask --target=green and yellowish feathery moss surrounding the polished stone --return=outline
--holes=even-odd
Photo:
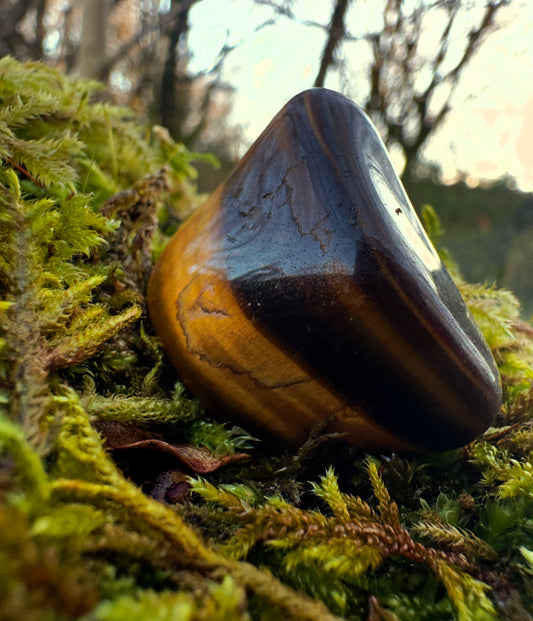
[[[378,459],[317,432],[234,461],[252,439],[176,384],[146,317],[194,156],[98,92],[0,60],[2,618],[532,618],[533,328],[513,295],[452,266],[504,383],[477,442]],[[135,470],[110,425],[188,457]],[[190,476],[202,451],[213,472]]]

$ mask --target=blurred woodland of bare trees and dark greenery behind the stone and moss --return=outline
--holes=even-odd
[[[198,52],[189,44],[197,23],[191,16],[205,3],[0,0],[0,56],[44,60],[68,75],[102,81],[107,86],[102,98],[132,106],[189,149],[215,154],[221,162],[218,169],[197,164],[198,188],[210,192],[242,152],[242,127],[229,120],[240,93],[224,68],[243,40],[227,34],[209,66],[191,69]],[[428,139],[454,105],[466,68],[494,31],[505,27],[499,17],[512,4],[328,0],[319,22],[316,6],[311,10],[304,0],[226,0],[213,23],[229,33],[238,28],[230,19],[242,7],[243,23],[250,15],[258,16],[243,32],[248,39],[280,20],[318,31],[322,47],[295,50],[306,54],[316,69],[308,86],[327,86],[328,75],[340,76],[341,86],[356,95],[396,156],[415,207],[435,207],[444,227],[442,244],[464,276],[512,289],[528,318],[533,313],[531,194],[513,189],[510,178],[470,187],[465,174],[454,184],[444,184],[438,166],[429,166],[423,157]],[[365,27],[358,32],[348,27],[350,10],[364,12]],[[433,28],[429,46],[428,24]],[[363,46],[358,48],[363,53],[357,76],[350,74],[347,62],[346,46],[352,44]]]

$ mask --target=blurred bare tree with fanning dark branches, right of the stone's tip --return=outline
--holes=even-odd
[[[451,101],[459,78],[492,31],[497,12],[509,0],[487,3],[480,21],[472,26],[461,56],[452,67],[444,69],[449,59],[449,47],[461,4],[437,0],[420,3],[406,12],[403,0],[388,0],[384,12],[384,28],[366,36],[372,50],[369,68],[370,94],[365,108],[376,121],[387,144],[399,145],[406,158],[406,170],[414,162],[429,136],[442,125],[451,109]],[[423,19],[428,11],[439,10],[444,15],[444,27],[432,58],[422,55],[418,48]],[[431,72],[429,83],[420,90],[417,82],[420,69]],[[441,92],[441,102],[435,108],[433,95]],[[442,97],[442,95],[445,95]]]

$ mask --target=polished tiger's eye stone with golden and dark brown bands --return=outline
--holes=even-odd
[[[318,422],[367,450],[445,450],[501,403],[492,355],[372,123],[292,99],[157,262],[148,304],[215,415],[289,443]]]

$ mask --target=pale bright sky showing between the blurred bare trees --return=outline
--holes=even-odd
[[[465,0],[472,11],[484,0]],[[355,0],[347,17],[348,31],[380,23],[376,0]],[[357,10],[356,10],[357,5]],[[191,69],[205,70],[223,45],[234,45],[223,78],[235,88],[232,123],[243,128],[244,151],[293,95],[313,85],[325,34],[316,27],[284,17],[258,31],[272,17],[267,7],[250,0],[204,0],[191,10]],[[301,20],[327,23],[331,2],[296,0]],[[472,14],[473,15],[473,14]],[[362,17],[363,16],[363,17]],[[228,24],[231,26],[228,27]],[[472,186],[501,177],[517,189],[533,191],[533,0],[511,0],[492,33],[472,59],[454,95],[445,124],[430,139],[424,157],[437,163],[445,182],[459,174]],[[431,25],[426,38],[431,41]],[[344,57],[364,66],[364,48],[347,45]],[[348,84],[329,72],[326,84],[363,97],[364,75],[352,72]],[[394,161],[394,157],[393,157]],[[400,168],[401,162],[397,160]]]

